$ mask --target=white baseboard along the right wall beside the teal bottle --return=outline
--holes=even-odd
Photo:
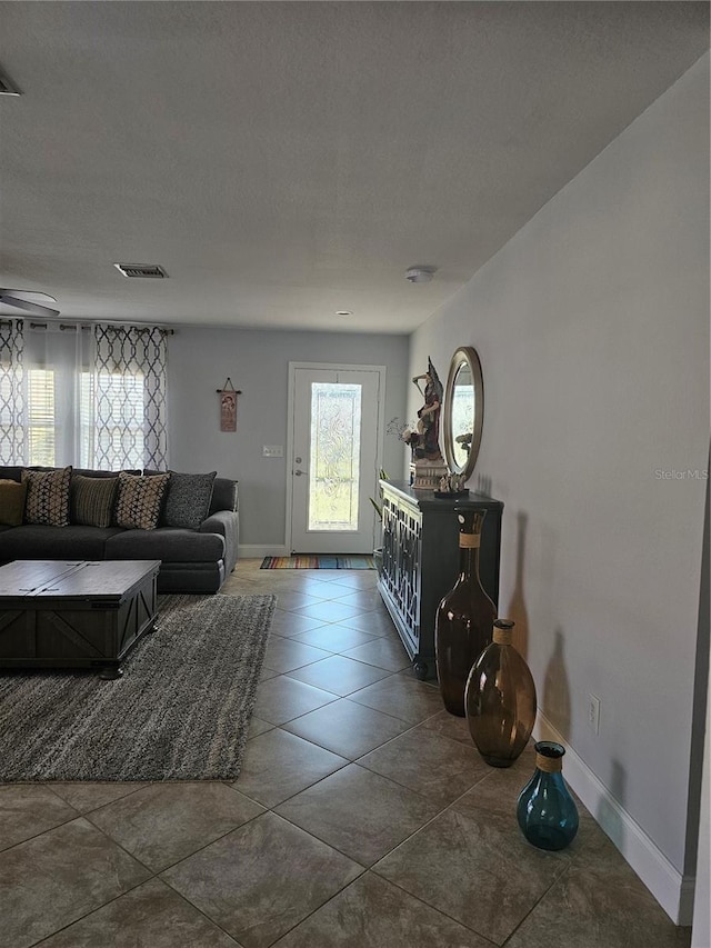
[[[554,740],[565,748],[563,774],[595,821],[610,837],[650,892],[675,925],[691,925],[693,918],[693,876],[682,876],[672,866],[638,822],[620,806],[551,722],[540,711],[535,722],[537,740]]]

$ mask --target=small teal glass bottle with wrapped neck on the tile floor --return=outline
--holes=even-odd
[[[563,754],[565,749],[560,744],[539,740],[535,772],[519,796],[519,827],[539,849],[564,849],[578,832],[578,808],[561,772]]]

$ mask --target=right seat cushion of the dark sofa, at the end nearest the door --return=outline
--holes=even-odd
[[[106,559],[217,562],[224,557],[224,540],[217,533],[198,533],[179,527],[123,530],[107,540]]]

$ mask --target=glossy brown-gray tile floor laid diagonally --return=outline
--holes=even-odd
[[[234,784],[0,786],[0,946],[688,946],[584,809],[523,840],[532,751],[481,761],[374,582],[239,563],[279,599]]]

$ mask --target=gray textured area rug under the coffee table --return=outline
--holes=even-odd
[[[123,662],[0,673],[0,781],[233,780],[274,596],[167,596]]]

